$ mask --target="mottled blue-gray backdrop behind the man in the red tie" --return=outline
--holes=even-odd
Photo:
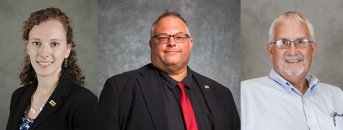
[[[240,111],[240,1],[99,1],[98,95],[107,78],[151,63],[150,29],[165,9],[189,24],[189,67],[228,87]]]

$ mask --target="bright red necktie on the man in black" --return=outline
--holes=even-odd
[[[197,120],[194,116],[192,104],[185,93],[185,84],[180,82],[177,84],[177,86],[180,89],[180,103],[187,130],[199,130]]]

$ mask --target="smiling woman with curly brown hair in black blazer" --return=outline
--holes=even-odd
[[[98,129],[98,98],[81,86],[85,76],[76,64],[72,28],[52,7],[24,21],[24,86],[12,94],[6,129]]]

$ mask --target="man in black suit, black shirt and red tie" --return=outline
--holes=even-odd
[[[107,79],[99,97],[99,129],[240,130],[231,91],[188,66],[187,22],[166,10],[151,28],[151,62]]]

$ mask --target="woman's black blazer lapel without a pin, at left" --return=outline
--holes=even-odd
[[[38,81],[34,80],[32,84],[26,89],[23,96],[21,97],[19,105],[18,105],[18,109],[16,110],[14,118],[13,118],[13,121],[16,121],[16,122],[13,123],[14,126],[12,128],[19,128],[20,121],[22,117],[24,116],[24,112],[27,108],[27,105],[31,102],[31,96],[33,94],[33,91],[35,91],[37,84],[38,84]]]

